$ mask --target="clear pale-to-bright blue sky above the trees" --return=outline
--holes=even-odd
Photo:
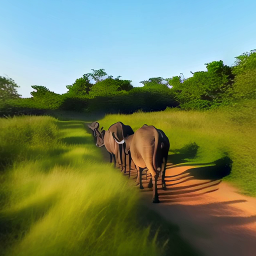
[[[132,80],[191,76],[256,48],[255,0],[2,0],[0,75],[66,92],[91,68]]]

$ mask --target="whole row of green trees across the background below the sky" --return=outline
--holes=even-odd
[[[67,92],[57,94],[41,85],[32,85],[31,97],[21,98],[19,87],[0,76],[0,114],[59,109],[83,112],[132,113],[158,111],[166,107],[203,110],[256,98],[256,50],[235,57],[232,66],[222,60],[205,63],[206,71],[182,73],[171,78],[152,77],[133,87],[131,80],[114,78],[103,68],[83,74]],[[181,77],[182,75],[182,77]]]

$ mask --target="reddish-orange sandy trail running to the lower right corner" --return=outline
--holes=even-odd
[[[221,180],[195,179],[189,172],[194,167],[167,166],[167,190],[161,189],[159,181],[158,204],[151,202],[148,172],[140,190],[141,203],[177,224],[183,238],[203,255],[255,256],[256,198],[239,194]],[[132,170],[130,178],[135,177],[136,171]]]

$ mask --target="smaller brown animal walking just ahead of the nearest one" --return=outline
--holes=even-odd
[[[102,132],[100,133],[98,129],[95,129],[95,132],[97,136],[96,146],[101,147],[105,145],[105,148],[110,155],[110,162],[113,157],[114,163],[117,160],[118,164],[121,165],[121,170],[123,170],[122,149],[125,148],[125,144],[121,145],[116,143],[111,134],[114,133],[119,141],[124,142],[124,138],[134,133],[131,127],[129,125],[123,124],[122,122],[116,122],[112,124],[106,131],[102,130]],[[126,157],[124,157],[124,173],[125,172],[126,172]]]

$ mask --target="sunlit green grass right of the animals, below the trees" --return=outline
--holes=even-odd
[[[135,131],[143,124],[162,129],[170,141],[169,154],[182,152],[195,142],[199,147],[188,162],[206,163],[228,155],[233,163],[231,174],[224,177],[256,196],[256,103],[244,102],[229,108],[210,111],[137,112],[131,115],[109,114],[98,119],[105,129],[117,122],[128,124]],[[175,156],[174,156],[175,157]]]

